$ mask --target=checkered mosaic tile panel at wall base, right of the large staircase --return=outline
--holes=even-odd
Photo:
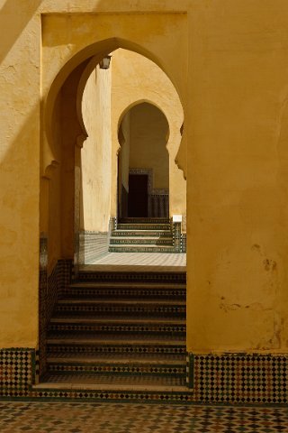
[[[287,355],[194,355],[193,360],[195,401],[288,402]]]

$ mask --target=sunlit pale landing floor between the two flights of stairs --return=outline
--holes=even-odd
[[[94,263],[146,266],[185,266],[184,253],[107,253]]]

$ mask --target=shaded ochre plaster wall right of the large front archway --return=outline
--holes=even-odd
[[[287,352],[288,5],[193,5],[188,349]]]

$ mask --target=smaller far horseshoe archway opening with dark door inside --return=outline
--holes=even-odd
[[[118,154],[118,216],[169,217],[169,124],[147,102],[124,115]]]

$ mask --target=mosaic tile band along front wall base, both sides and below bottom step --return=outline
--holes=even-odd
[[[187,387],[186,392],[44,390],[32,387],[35,382],[34,349],[0,349],[0,400],[47,398],[260,405],[288,402],[288,355],[190,354],[187,364],[192,373],[187,378],[193,381],[193,390]]]

